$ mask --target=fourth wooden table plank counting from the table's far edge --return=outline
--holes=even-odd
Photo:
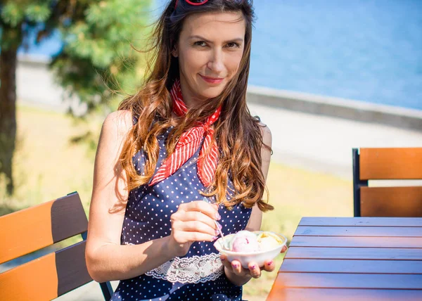
[[[286,259],[422,260],[421,249],[290,247]]]

